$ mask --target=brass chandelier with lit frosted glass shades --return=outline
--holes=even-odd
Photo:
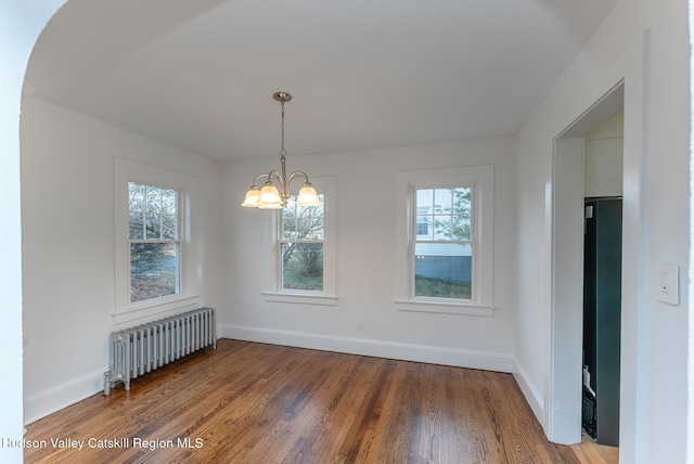
[[[318,198],[316,189],[308,181],[308,176],[304,171],[295,171],[286,176],[286,151],[284,150],[284,104],[292,100],[292,95],[286,92],[275,92],[272,98],[280,102],[280,108],[282,114],[282,145],[280,149],[280,164],[282,167],[280,171],[271,170],[268,173],[261,173],[256,176],[253,181],[253,185],[246,192],[246,199],[241,206],[248,208],[261,208],[261,209],[280,209],[286,205],[287,199],[292,196],[290,193],[290,183],[295,178],[304,179],[304,186],[299,191],[296,198],[296,203],[299,206],[319,206],[321,201]],[[267,178],[262,189],[258,189],[258,181]]]

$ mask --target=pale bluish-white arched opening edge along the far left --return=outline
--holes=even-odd
[[[0,3],[0,436],[23,436],[22,249],[20,195],[20,107],[29,54],[63,0]],[[0,448],[0,461],[22,462],[21,448]]]

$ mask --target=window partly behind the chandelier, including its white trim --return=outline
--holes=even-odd
[[[274,272],[267,301],[336,306],[335,179],[311,178],[321,206],[299,206],[291,197],[277,214]]]

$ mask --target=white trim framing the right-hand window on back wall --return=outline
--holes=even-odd
[[[493,165],[400,171],[397,176],[396,308],[401,311],[493,315]],[[467,300],[413,297],[411,247],[415,189],[474,185],[473,295]]]

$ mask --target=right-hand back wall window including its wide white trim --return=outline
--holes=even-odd
[[[492,314],[493,167],[402,171],[396,307]]]

